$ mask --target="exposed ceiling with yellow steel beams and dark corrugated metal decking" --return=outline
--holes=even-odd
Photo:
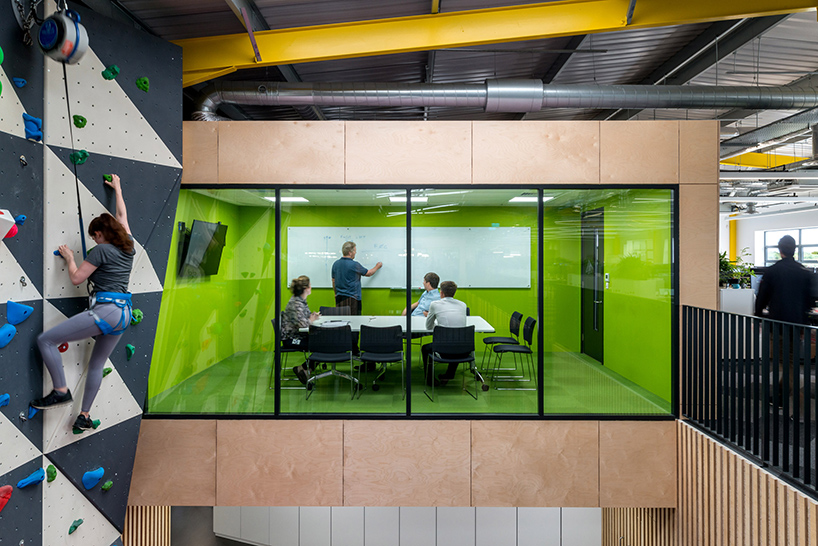
[[[182,45],[186,114],[208,84],[484,84],[818,87],[815,2],[799,0],[84,0]],[[478,11],[474,11],[478,10]],[[108,13],[110,15],[110,13]],[[270,31],[274,32],[270,32]],[[258,46],[254,52],[253,43]],[[307,62],[309,61],[309,62]],[[285,64],[280,64],[285,62]],[[198,70],[198,72],[197,72]],[[816,196],[818,109],[222,104],[236,120],[721,120],[722,196]],[[818,172],[818,171],[816,171]],[[734,202],[734,210],[748,203]],[[790,205],[791,206],[791,205]]]

